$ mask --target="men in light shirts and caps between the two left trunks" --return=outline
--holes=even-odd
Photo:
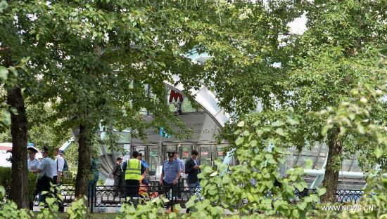
[[[29,151],[28,154],[28,171],[32,173],[36,173],[38,175],[37,178],[37,184],[34,191],[34,197],[36,197],[38,194],[41,197],[41,201],[46,200],[46,197],[48,194],[53,195],[53,197],[56,197],[57,190],[56,187],[54,187],[53,193],[42,193],[43,191],[50,192],[51,190],[51,184],[53,185],[61,185],[62,183],[62,177],[63,177],[63,171],[65,171],[68,167],[65,162],[65,159],[63,156],[63,151],[60,151],[59,148],[56,148],[53,151],[53,158],[49,156],[49,148],[44,147],[42,151],[42,160],[39,160],[36,158],[36,154],[38,152],[36,147],[28,147]],[[64,207],[63,203],[58,202],[58,211],[63,212]],[[33,201],[30,203],[30,209],[33,208]]]

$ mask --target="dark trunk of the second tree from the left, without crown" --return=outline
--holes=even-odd
[[[90,175],[90,129],[84,124],[80,124],[80,133],[78,137],[79,156],[78,172],[75,181],[75,197],[87,196]]]

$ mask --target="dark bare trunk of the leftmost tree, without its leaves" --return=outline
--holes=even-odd
[[[18,208],[29,208],[27,178],[27,115],[21,88],[14,86],[7,91],[7,103],[17,110],[11,113],[12,135],[12,184],[11,200]]]

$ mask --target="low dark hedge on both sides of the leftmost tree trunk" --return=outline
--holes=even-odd
[[[0,166],[0,185],[2,185],[5,189],[5,198],[8,199],[11,196],[11,179],[12,171],[9,167]],[[37,175],[34,173],[28,172],[28,197],[30,201],[34,196],[34,190],[37,183]]]

